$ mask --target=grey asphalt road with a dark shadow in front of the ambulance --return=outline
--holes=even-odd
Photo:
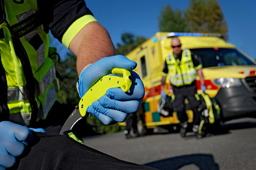
[[[161,131],[160,131],[161,132]],[[126,139],[123,133],[83,138],[85,145],[124,161],[159,170],[256,170],[256,119],[223,124],[221,133],[156,133]]]

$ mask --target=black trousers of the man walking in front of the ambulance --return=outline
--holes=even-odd
[[[184,123],[188,119],[186,115],[186,107],[184,103],[185,98],[187,98],[189,101],[190,109],[193,111],[193,124],[199,125],[200,118],[199,118],[198,106],[200,105],[200,101],[196,100],[195,98],[195,94],[197,90],[196,85],[182,86],[182,87],[172,86],[172,89],[175,96],[173,105],[175,107],[175,110],[177,111],[177,115],[180,122]]]

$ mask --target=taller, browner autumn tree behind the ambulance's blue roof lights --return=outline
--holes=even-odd
[[[191,32],[221,33],[228,39],[228,25],[216,0],[190,0],[184,16]]]

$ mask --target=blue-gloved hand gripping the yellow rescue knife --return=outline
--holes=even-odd
[[[84,69],[79,76],[80,97],[97,82],[99,78],[110,74],[114,68],[133,70],[137,66],[135,61],[129,60],[123,55],[105,57]],[[130,113],[139,110],[141,99],[144,96],[144,85],[140,76],[131,71],[132,85],[128,92],[123,92],[121,88],[110,88],[106,95],[94,101],[92,106],[88,106],[87,112],[96,116],[103,124],[111,125],[116,122],[125,121]]]

